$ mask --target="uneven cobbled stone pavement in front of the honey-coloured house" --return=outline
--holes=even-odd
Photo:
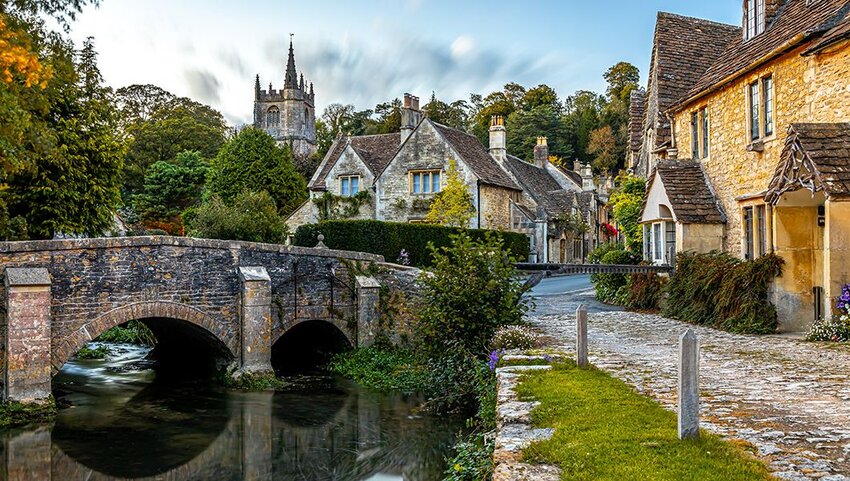
[[[536,299],[546,344],[575,346],[574,300]],[[567,313],[566,309],[570,309]],[[591,313],[591,364],[676,409],[678,338],[700,339],[701,426],[755,446],[780,479],[850,481],[850,348],[744,336],[657,315]]]

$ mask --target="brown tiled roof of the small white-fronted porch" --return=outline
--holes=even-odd
[[[726,216],[720,210],[711,192],[699,162],[692,160],[661,161],[655,167],[647,186],[652,188],[656,178],[661,178],[664,191],[676,221],[683,224],[724,224]],[[643,203],[646,209],[646,199]]]

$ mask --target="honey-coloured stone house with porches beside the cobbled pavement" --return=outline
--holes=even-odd
[[[667,143],[644,132],[642,144],[660,149],[655,162],[667,159],[649,174],[647,253],[660,260],[655,251],[671,244],[742,259],[776,253],[785,260],[771,294],[780,330],[799,331],[831,315],[850,282],[850,2],[743,6],[742,27],[708,27],[715,33],[700,42],[659,35],[673,17],[659,15],[653,62],[663,52],[708,66],[672,89],[672,101],[655,101],[670,120]],[[706,52],[720,55],[703,62]]]

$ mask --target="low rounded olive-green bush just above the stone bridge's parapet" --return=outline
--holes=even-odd
[[[280,244],[289,235],[274,199],[265,191],[242,191],[231,204],[214,196],[187,217],[193,237]]]

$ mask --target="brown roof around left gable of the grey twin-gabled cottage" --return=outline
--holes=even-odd
[[[315,182],[311,182],[308,186],[313,190],[323,190],[325,186],[325,178],[330,174],[333,166],[339,160],[345,148],[350,144],[351,148],[357,152],[357,155],[363,159],[366,167],[373,174],[378,175],[384,170],[384,167],[392,160],[398,149],[401,147],[400,134],[380,134],[380,135],[359,135],[356,137],[339,137],[325,156],[325,162],[319,176]]]

